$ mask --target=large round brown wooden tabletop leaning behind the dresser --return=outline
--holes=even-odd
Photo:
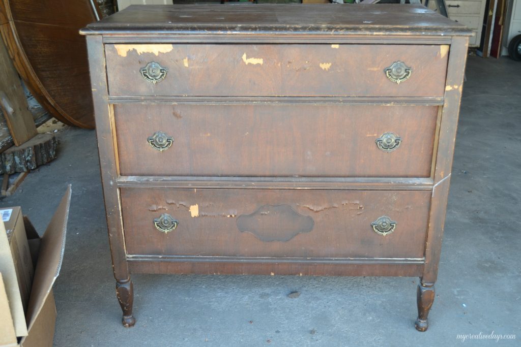
[[[0,33],[29,90],[56,119],[84,128],[94,128],[94,112],[78,31],[96,17],[90,0],[0,0]]]

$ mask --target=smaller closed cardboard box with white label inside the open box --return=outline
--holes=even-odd
[[[15,264],[23,312],[27,312],[34,277],[34,265],[27,242],[26,228],[23,225],[22,209],[18,206],[9,207],[0,210],[0,215],[2,215],[13,263]]]

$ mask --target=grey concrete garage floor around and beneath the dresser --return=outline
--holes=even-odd
[[[430,328],[414,329],[417,278],[134,275],[121,326],[94,131],[60,132],[58,159],[0,205],[38,230],[72,184],[54,293],[56,346],[456,345],[457,334],[521,339],[521,63],[469,57]],[[299,298],[288,293],[297,290]]]

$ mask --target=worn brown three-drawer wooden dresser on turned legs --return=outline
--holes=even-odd
[[[414,5],[131,6],[89,49],[132,273],[419,276],[434,299],[468,36]]]

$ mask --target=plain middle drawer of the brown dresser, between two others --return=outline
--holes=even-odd
[[[438,106],[114,105],[126,176],[430,177]]]

